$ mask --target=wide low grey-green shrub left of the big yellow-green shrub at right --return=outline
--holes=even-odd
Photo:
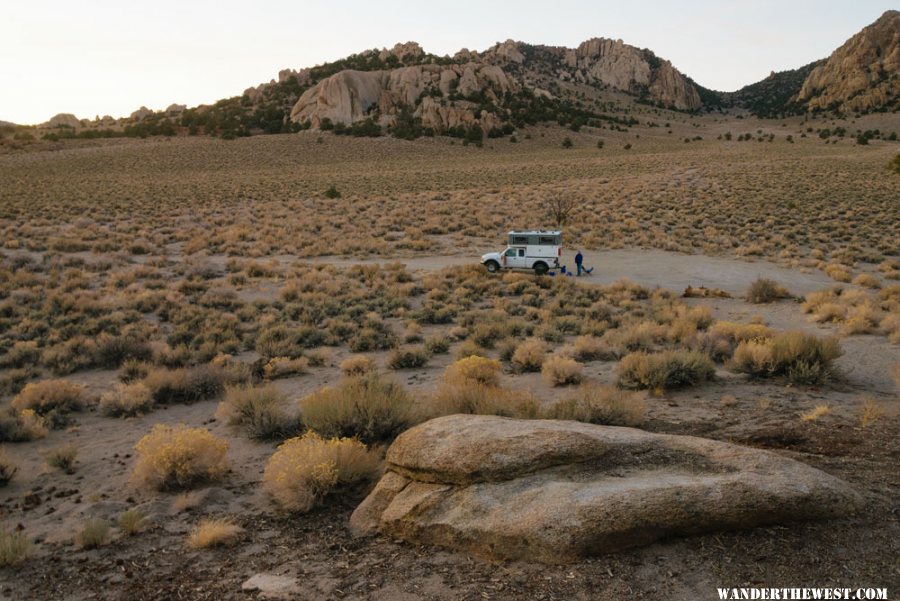
[[[622,388],[662,391],[711,380],[715,367],[707,355],[698,351],[638,351],[622,358],[617,373]]]

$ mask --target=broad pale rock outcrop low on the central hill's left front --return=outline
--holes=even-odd
[[[457,93],[467,97],[483,93],[496,100],[518,84],[494,65],[416,65],[381,71],[340,71],[306,90],[291,111],[291,120],[309,121],[319,127],[323,119],[351,124],[376,117],[389,124],[404,107],[422,118],[422,125],[444,130],[461,123],[479,123],[485,129],[494,126],[496,117],[475,116],[474,104],[465,101],[441,104],[430,96]]]

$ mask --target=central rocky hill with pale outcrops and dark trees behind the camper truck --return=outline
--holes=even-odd
[[[353,58],[370,68],[340,70],[314,83],[312,70],[282,73],[280,83],[294,78],[309,86],[292,107],[291,121],[328,127],[370,119],[391,126],[408,112],[435,131],[478,124],[488,132],[527,112],[522,105],[530,98],[558,100],[541,87],[556,80],[604,86],[679,110],[702,107],[697,88],[671,63],[621,40],[592,39],[575,49],[508,40],[453,57],[426,54],[409,42]],[[258,97],[266,89],[248,92]]]

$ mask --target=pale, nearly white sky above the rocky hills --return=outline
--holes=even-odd
[[[896,0],[9,0],[0,120],[195,106],[298,69],[414,40],[427,52],[507,38],[621,38],[731,91],[828,56]]]

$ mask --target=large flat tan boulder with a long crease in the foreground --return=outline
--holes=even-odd
[[[401,434],[386,462],[355,533],[487,559],[560,563],[862,506],[847,483],[774,453],[572,421],[441,417]]]

